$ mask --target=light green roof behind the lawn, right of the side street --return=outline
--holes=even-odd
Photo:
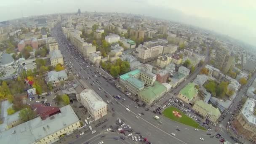
[[[193,97],[197,94],[197,89],[195,88],[194,83],[188,83],[179,93],[186,96],[188,99],[193,99]]]

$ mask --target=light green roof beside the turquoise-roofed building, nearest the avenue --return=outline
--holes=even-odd
[[[166,91],[165,86],[158,81],[155,81],[153,86],[148,86],[142,91],[139,91],[139,95],[144,96],[147,99],[155,99],[155,97],[160,95],[163,91]]]

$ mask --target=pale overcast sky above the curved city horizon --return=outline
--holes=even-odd
[[[144,14],[229,35],[256,45],[256,0],[1,0],[0,21],[84,11]]]

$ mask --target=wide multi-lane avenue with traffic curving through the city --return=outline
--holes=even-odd
[[[76,73],[80,73],[80,77],[82,78],[84,77],[86,79],[89,77],[89,79],[86,79],[86,82],[88,85],[95,83],[95,85],[91,85],[91,89],[96,91],[96,93],[98,93],[99,96],[104,99],[104,101],[113,101],[113,104],[108,105],[109,109],[115,109],[115,117],[113,118],[113,122],[117,119],[117,117],[124,120],[126,124],[131,125],[134,131],[140,132],[141,135],[147,137],[153,144],[219,143],[218,139],[207,136],[205,131],[195,131],[192,127],[173,122],[163,116],[160,116],[162,124],[158,123],[158,121],[153,118],[154,114],[152,112],[145,111],[145,109],[141,107],[137,109],[135,107],[137,104],[131,99],[128,99],[128,97],[125,97],[126,100],[124,102],[120,100],[117,104],[116,101],[118,100],[114,99],[112,96],[121,95],[122,93],[103,77],[99,77],[99,74],[95,74],[95,67],[90,67],[90,70],[83,66],[84,59],[77,56],[76,52],[72,49],[68,49],[67,45],[70,45],[70,42],[61,32],[60,24],[53,28],[52,36],[56,37],[65,61],[72,64],[72,70]],[[94,75],[97,75],[98,77],[94,77]],[[96,82],[96,80],[98,82]],[[98,89],[99,87],[101,87],[101,90]],[[131,112],[126,111],[125,106],[128,106]],[[139,119],[136,119],[135,116],[137,113],[141,112],[143,112],[144,115],[139,117]],[[181,131],[176,131],[176,128],[179,128]],[[171,133],[176,133],[176,136],[171,136]],[[201,141],[199,139],[200,137],[204,138],[205,141]],[[86,140],[84,140],[84,142],[85,141]]]

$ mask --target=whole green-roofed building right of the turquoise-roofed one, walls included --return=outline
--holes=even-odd
[[[164,85],[155,81],[152,86],[148,86],[142,91],[139,91],[138,98],[144,103],[151,105],[165,94],[166,89]]]

